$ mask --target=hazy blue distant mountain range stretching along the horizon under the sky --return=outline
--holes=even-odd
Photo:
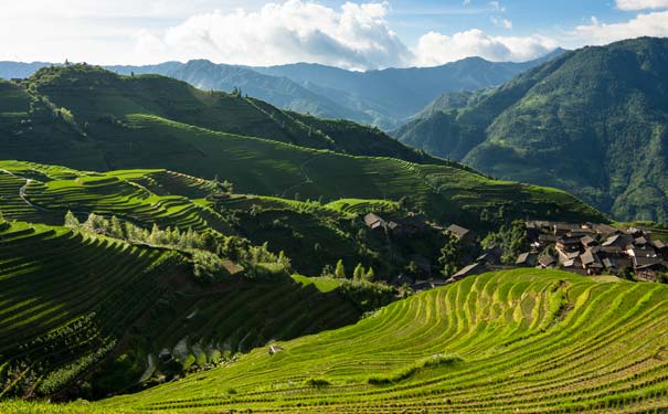
[[[232,91],[236,87],[283,109],[393,129],[443,93],[499,85],[563,52],[556,50],[524,63],[494,63],[469,57],[437,67],[370,72],[306,63],[250,67],[204,60],[107,68],[125,75],[166,75],[203,89]],[[24,78],[49,65],[44,62],[0,62],[0,77]]]

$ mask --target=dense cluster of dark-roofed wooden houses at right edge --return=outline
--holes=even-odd
[[[633,272],[638,279],[651,282],[668,270],[668,246],[643,229],[530,221],[527,233],[532,250],[519,255],[517,266],[582,275]]]

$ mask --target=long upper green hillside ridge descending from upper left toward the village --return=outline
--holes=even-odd
[[[242,193],[324,202],[407,197],[415,210],[437,221],[470,227],[527,217],[605,221],[566,193],[489,180],[454,162],[409,153],[380,131],[283,113],[252,98],[211,95],[160,76],[70,66],[3,85],[0,151],[10,159],[93,171],[148,168],[209,180],[218,176]],[[264,120],[255,118],[258,112]],[[236,120],[234,128],[222,125]],[[268,129],[254,129],[263,125]],[[300,138],[282,138],[284,125]],[[494,219],[480,223],[480,216]]]

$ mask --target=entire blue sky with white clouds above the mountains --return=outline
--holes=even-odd
[[[0,61],[363,71],[668,36],[668,0],[1,0]]]

